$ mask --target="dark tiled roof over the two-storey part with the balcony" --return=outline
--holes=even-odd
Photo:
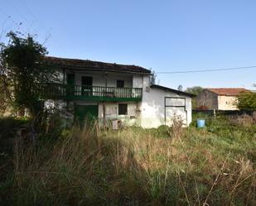
[[[68,59],[54,56],[46,56],[45,60],[46,64],[57,65],[63,69],[85,69],[95,71],[151,74],[151,70],[136,65],[119,65],[101,61]]]

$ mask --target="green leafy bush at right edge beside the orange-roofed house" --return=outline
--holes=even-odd
[[[238,97],[238,108],[242,110],[256,111],[256,93],[241,93]]]

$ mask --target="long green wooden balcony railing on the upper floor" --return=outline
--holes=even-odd
[[[46,84],[42,98],[85,101],[138,102],[142,100],[141,88],[116,88],[85,85]]]

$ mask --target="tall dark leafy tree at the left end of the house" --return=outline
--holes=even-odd
[[[44,64],[46,48],[34,41],[31,35],[21,36],[21,33],[11,31],[7,34],[7,45],[1,44],[0,74],[2,83],[5,83],[1,90],[10,93],[12,105],[19,111],[28,108],[35,116],[41,85],[53,79],[55,72]]]

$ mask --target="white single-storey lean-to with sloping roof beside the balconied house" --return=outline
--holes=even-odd
[[[144,128],[171,126],[175,117],[179,117],[184,126],[192,121],[191,99],[194,94],[152,84],[143,93],[141,126]]]

